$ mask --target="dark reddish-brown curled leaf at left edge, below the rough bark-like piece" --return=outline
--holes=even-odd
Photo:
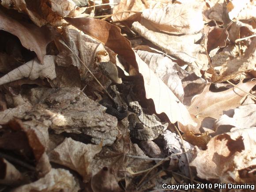
[[[17,118],[2,126],[4,130],[0,138],[1,149],[18,153],[26,161],[35,161],[41,176],[50,171],[51,165],[45,153],[49,143],[47,126],[40,122],[22,122]]]

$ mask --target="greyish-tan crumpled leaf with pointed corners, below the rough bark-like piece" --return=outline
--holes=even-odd
[[[101,149],[102,145],[84,144],[66,138],[63,143],[51,151],[50,161],[77,171],[83,177],[83,182],[87,183],[92,174],[90,163]]]

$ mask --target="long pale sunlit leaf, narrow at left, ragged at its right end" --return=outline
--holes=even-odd
[[[202,37],[201,33],[195,35],[171,36],[148,30],[139,22],[134,22],[132,26],[136,32],[151,41],[154,45],[157,45],[170,55],[177,56],[188,63],[195,61],[198,52],[202,49],[201,45],[195,44],[195,42]]]

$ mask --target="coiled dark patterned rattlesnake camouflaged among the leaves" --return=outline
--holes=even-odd
[[[133,93],[134,83],[122,81],[118,77],[117,66],[111,62],[101,62],[99,64],[102,73],[112,80],[107,89],[112,96],[110,99],[102,100],[100,103],[107,107],[106,113],[117,117],[117,120],[122,120],[127,117],[128,111],[132,112],[128,116],[130,135],[139,140],[153,140],[159,134],[166,130],[168,123],[162,124],[160,119],[155,115],[145,114],[143,108],[136,101],[136,96]]]

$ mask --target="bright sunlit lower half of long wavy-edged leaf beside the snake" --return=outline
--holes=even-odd
[[[143,75],[146,98],[152,98],[156,113],[166,113],[172,123],[193,124],[188,109],[178,100],[171,90],[159,79],[147,64],[135,53],[139,72]]]

